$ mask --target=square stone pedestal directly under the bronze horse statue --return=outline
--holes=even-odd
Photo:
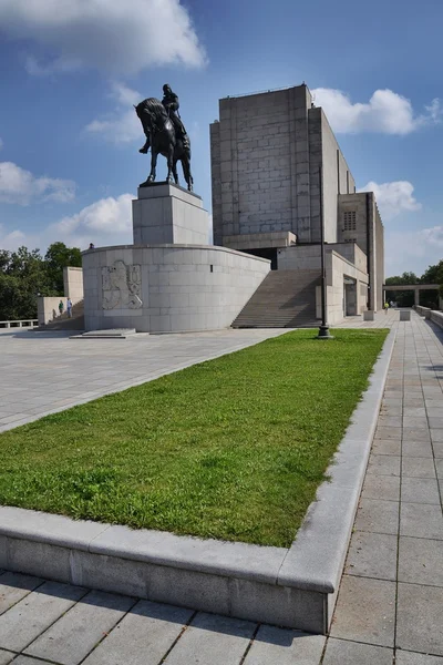
[[[138,187],[133,201],[134,245],[207,245],[208,213],[199,196],[177,185]]]

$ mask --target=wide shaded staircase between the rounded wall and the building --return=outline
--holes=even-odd
[[[315,328],[318,270],[271,270],[233,328]]]

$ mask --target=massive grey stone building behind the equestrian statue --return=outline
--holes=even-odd
[[[291,278],[293,270],[318,273],[322,204],[330,317],[382,307],[383,226],[374,195],[356,193],[307,85],[220,100],[210,153],[215,245],[269,258]]]

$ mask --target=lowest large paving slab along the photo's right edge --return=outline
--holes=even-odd
[[[443,655],[443,589],[399,583],[396,645]]]

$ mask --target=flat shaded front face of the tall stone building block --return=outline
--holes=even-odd
[[[306,85],[220,100],[220,120],[210,127],[215,243],[309,233],[310,105]]]

